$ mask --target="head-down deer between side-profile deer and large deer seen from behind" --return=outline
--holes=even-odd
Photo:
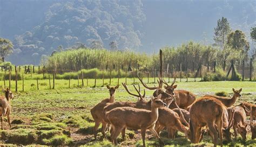
[[[158,111],[159,116],[156,124],[156,131],[158,135],[165,127],[169,138],[174,138],[176,130],[183,132],[186,136],[188,135],[188,128],[181,123],[181,119],[176,112],[169,108],[159,108]]]

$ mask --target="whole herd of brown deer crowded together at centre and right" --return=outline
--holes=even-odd
[[[138,77],[139,78],[139,77]],[[91,109],[91,115],[95,120],[93,133],[97,137],[97,129],[102,124],[101,132],[106,138],[107,125],[111,125],[110,139],[117,144],[117,137],[122,133],[125,139],[126,128],[140,129],[143,146],[145,146],[145,132],[149,130],[161,141],[159,134],[166,128],[169,138],[174,138],[177,131],[183,132],[192,143],[199,143],[203,139],[205,132],[209,132],[214,146],[217,146],[218,137],[220,145],[223,145],[223,136],[227,141],[231,141],[230,129],[233,127],[234,136],[240,134],[246,139],[247,125],[246,116],[250,116],[250,128],[252,139],[256,138],[256,123],[253,117],[256,116],[256,104],[243,102],[238,106],[234,103],[241,96],[241,90],[233,88],[233,97],[226,98],[214,95],[205,95],[196,99],[196,95],[186,90],[175,90],[174,78],[171,85],[159,76],[158,87],[147,86],[141,78],[142,85],[150,90],[154,90],[152,98],[147,101],[144,93],[140,93],[140,87],[133,85],[138,94],[131,93],[125,83],[123,87],[132,96],[138,97],[137,102],[120,101],[115,102],[114,93],[119,86],[107,86],[110,98],[96,104]],[[164,86],[164,88],[162,88]]]

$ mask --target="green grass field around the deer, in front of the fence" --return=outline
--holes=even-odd
[[[197,79],[199,81],[200,79]],[[124,82],[120,79],[119,82]],[[144,78],[147,83],[147,79]],[[154,85],[150,79],[149,85]],[[172,81],[172,79],[171,79]],[[198,97],[204,94],[214,94],[215,92],[224,91],[232,95],[232,88],[242,88],[241,101],[256,101],[256,82],[238,82],[238,81],[221,81],[221,82],[192,82],[194,79],[177,80],[177,89],[190,90]],[[9,85],[8,81],[6,86]],[[55,89],[49,90],[49,80],[38,80],[39,90],[37,90],[36,80],[25,80],[24,92],[22,92],[22,81],[18,81],[18,92],[15,93],[15,99],[11,101],[12,105],[12,128],[10,129],[7,122],[4,122],[1,142],[9,145],[90,145],[99,146],[112,144],[107,140],[102,140],[102,136],[98,133],[98,140],[95,141],[92,135],[92,127],[94,125],[90,108],[95,106],[101,100],[109,97],[108,90],[104,87],[102,80],[97,80],[97,87],[94,85],[94,79],[89,79],[89,85],[77,86],[77,80],[71,80],[71,88],[69,80],[56,80]],[[104,84],[109,82],[105,79]],[[3,83],[3,81],[2,81]],[[131,84],[133,79],[127,79],[130,89],[134,92]],[[138,79],[135,80],[138,83]],[[79,81],[82,85],[82,81]],[[111,85],[117,85],[117,79],[112,79]],[[11,81],[11,90],[15,91],[15,81]],[[146,90],[146,95],[152,95],[152,91]],[[137,98],[130,96],[121,86],[116,93],[116,101],[137,101]],[[6,121],[6,120],[5,120]],[[107,134],[109,136],[109,134]],[[179,134],[176,139],[167,139],[166,132],[161,133],[165,145],[194,145]],[[120,136],[119,136],[120,137]],[[141,137],[138,131],[127,130],[126,141],[120,145],[142,145]],[[147,145],[158,145],[158,142],[147,134]],[[224,144],[225,141],[224,141]],[[233,142],[226,145],[256,145],[256,141],[251,140],[251,134],[248,133],[246,142],[242,142],[239,137]],[[206,137],[200,145],[212,145],[210,137]]]

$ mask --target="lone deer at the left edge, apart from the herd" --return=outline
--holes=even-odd
[[[11,122],[10,122],[10,114],[11,114],[11,99],[14,99],[14,95],[9,90],[9,88],[3,89],[3,92],[5,93],[5,96],[0,97],[0,114],[1,114],[1,124],[2,124],[2,130],[3,130],[3,118],[4,116],[7,116],[8,123],[11,128]]]

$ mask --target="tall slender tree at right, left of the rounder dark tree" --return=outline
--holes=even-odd
[[[227,35],[231,32],[230,24],[227,21],[227,18],[222,17],[217,22],[217,27],[214,28],[214,41],[215,45],[220,46],[224,49]]]

